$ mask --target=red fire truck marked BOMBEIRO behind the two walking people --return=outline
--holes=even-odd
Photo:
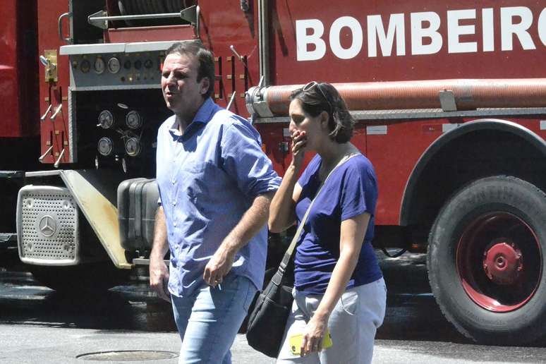
[[[176,41],[282,174],[291,90],[334,83],[380,183],[375,244],[427,248],[460,332],[546,334],[546,8],[540,1],[5,0],[2,246],[56,289],[147,259],[159,87]]]

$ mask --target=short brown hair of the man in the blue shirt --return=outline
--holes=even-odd
[[[202,78],[209,79],[209,89],[203,95],[203,98],[210,97],[214,92],[214,55],[212,51],[206,49],[200,42],[188,41],[188,42],[176,42],[166,50],[166,55],[180,54],[181,56],[194,56],[199,61],[197,82],[200,82]]]

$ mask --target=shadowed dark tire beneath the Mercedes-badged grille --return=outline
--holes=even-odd
[[[94,293],[106,291],[128,279],[128,269],[116,269],[111,262],[68,267],[29,265],[32,276],[59,293]]]

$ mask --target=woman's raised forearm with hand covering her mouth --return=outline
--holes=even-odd
[[[269,206],[268,226],[272,233],[285,231],[296,221],[296,202],[301,193],[298,174],[303,164],[306,142],[305,132],[296,131],[292,136],[292,162]]]

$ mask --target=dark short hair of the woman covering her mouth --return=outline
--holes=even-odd
[[[329,136],[332,140],[340,144],[351,140],[355,119],[349,113],[347,105],[337,92],[336,87],[329,83],[317,83],[312,87],[294,90],[290,99],[300,100],[303,111],[310,116],[315,117],[320,115],[322,111],[326,111],[329,116]]]

